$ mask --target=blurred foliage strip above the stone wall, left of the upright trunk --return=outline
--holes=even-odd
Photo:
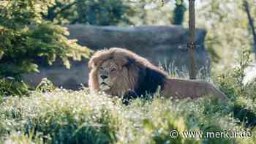
[[[182,20],[186,10],[181,1],[177,0],[176,4],[175,1],[172,2],[164,4],[165,1],[152,0],[55,0],[44,18],[54,23],[89,23],[100,26],[170,24],[170,21],[175,23],[173,20]],[[173,15],[175,5],[177,9]]]

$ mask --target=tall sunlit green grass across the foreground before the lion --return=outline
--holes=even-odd
[[[241,99],[238,99],[242,102]],[[244,101],[243,101],[244,102]],[[233,102],[233,105],[238,102]],[[55,89],[8,97],[0,105],[0,141],[5,143],[255,143],[247,138],[170,137],[170,131],[241,131],[233,105],[214,97],[197,100],[135,99],[131,105],[87,90]],[[242,104],[239,104],[242,105]],[[251,102],[249,110],[256,110]],[[254,111],[253,111],[254,113]]]

